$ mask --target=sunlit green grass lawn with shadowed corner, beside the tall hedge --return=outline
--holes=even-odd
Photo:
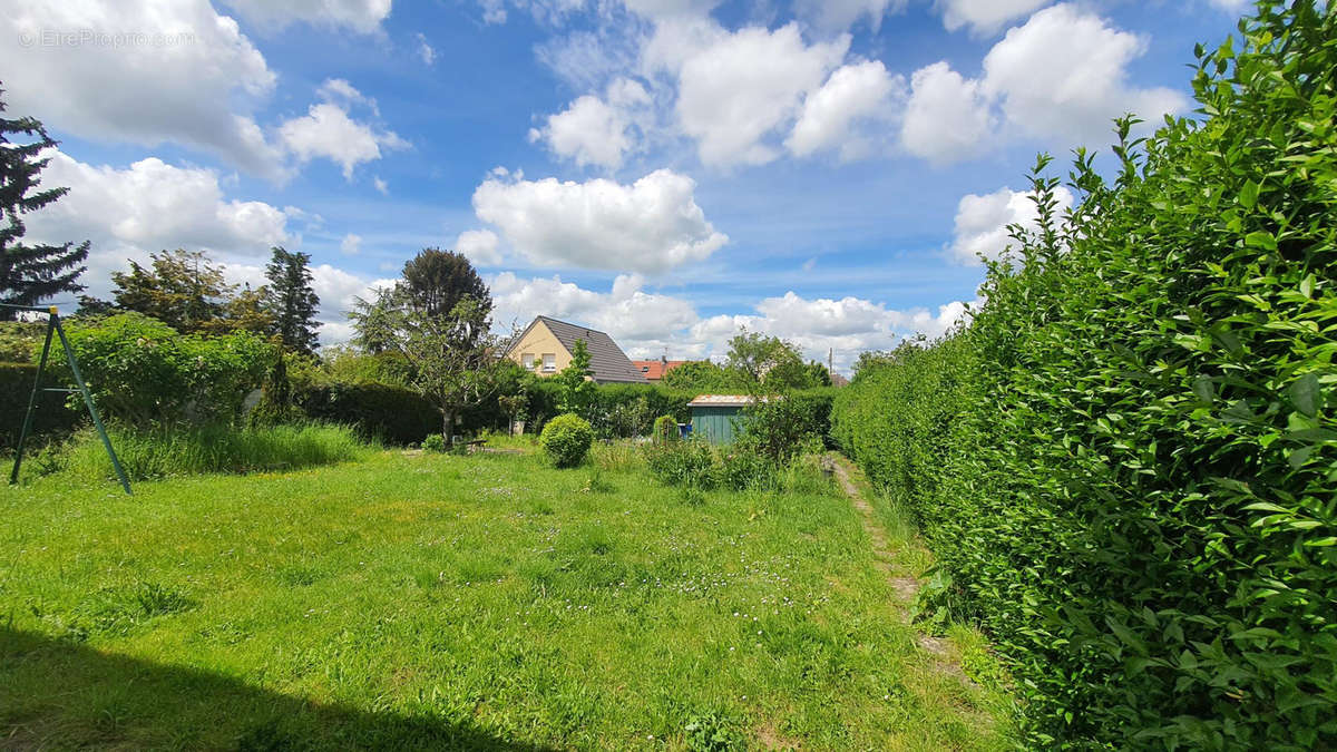
[[[1005,743],[833,483],[702,499],[603,464],[0,490],[0,747]]]

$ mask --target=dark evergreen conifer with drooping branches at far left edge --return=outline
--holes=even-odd
[[[0,114],[4,112],[4,91],[0,90]],[[23,134],[31,143],[15,143],[11,134]],[[32,140],[35,139],[35,140]],[[78,246],[23,245],[25,231],[23,214],[36,211],[70,191],[67,187],[36,190],[41,185],[40,173],[51,158],[39,158],[41,150],[56,142],[35,118],[0,118],[0,302],[36,305],[60,293],[84,289],[76,280],[88,258],[88,241]],[[17,312],[0,308],[0,320],[13,318]]]

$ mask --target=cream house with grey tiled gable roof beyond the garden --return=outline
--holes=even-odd
[[[552,376],[571,365],[576,340],[584,340],[586,349],[590,351],[590,371],[595,383],[647,383],[640,369],[631,364],[627,353],[622,352],[612,337],[598,329],[558,321],[548,316],[535,318],[519,337],[511,340],[501,355],[519,363],[525,371],[539,376]]]

